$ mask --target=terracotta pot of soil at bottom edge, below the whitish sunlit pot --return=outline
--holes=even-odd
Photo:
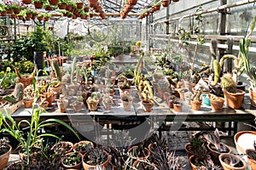
[[[236,158],[237,160],[241,161],[242,163],[242,166],[241,167],[231,167],[229,164],[225,163],[224,162],[224,159],[225,158],[230,158],[230,157],[234,157]],[[221,163],[221,166],[223,167],[224,170],[245,170],[247,168],[247,164],[245,161],[243,161],[241,159],[241,157],[239,156],[235,156],[233,154],[221,154],[219,157],[218,157],[220,163]]]

